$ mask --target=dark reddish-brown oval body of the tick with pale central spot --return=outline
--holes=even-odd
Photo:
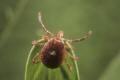
[[[51,39],[45,43],[40,58],[48,68],[57,68],[64,60],[65,47],[60,40]]]

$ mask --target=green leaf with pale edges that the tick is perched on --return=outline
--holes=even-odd
[[[44,40],[39,40],[38,42],[42,41]],[[66,43],[66,45],[70,46],[69,43]],[[80,80],[77,62],[71,60],[68,56],[66,56],[66,59],[72,66],[71,72],[68,70],[67,65],[64,62],[56,69],[49,69],[41,62],[39,64],[33,64],[33,57],[36,53],[40,52],[41,49],[42,47],[32,47],[26,63],[25,80]],[[70,50],[69,52],[72,53],[72,55],[75,55],[73,50]]]

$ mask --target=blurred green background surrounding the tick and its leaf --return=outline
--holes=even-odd
[[[81,80],[120,80],[119,0],[0,0],[0,80],[24,80],[31,42],[45,35],[38,23],[55,34],[76,39]]]

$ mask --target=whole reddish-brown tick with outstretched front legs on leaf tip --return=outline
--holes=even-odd
[[[41,14],[38,13],[38,20],[43,28],[43,30],[50,36],[42,36],[46,42],[38,43],[37,41],[33,41],[32,44],[35,46],[42,46],[42,50],[37,53],[33,58],[33,63],[38,63],[37,57],[40,57],[41,62],[48,68],[54,69],[59,67],[63,61],[65,61],[68,69],[71,71],[72,67],[68,63],[67,59],[65,59],[65,55],[69,56],[73,60],[77,60],[78,57],[72,56],[66,49],[73,49],[72,47],[66,46],[66,42],[80,42],[88,38],[91,34],[89,31],[84,37],[76,40],[69,40],[63,38],[63,31],[59,31],[58,34],[55,36],[53,33],[48,31],[41,20]]]

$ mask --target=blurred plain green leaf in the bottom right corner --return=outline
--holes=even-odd
[[[109,67],[99,80],[120,80],[120,52],[118,56],[112,60]]]

